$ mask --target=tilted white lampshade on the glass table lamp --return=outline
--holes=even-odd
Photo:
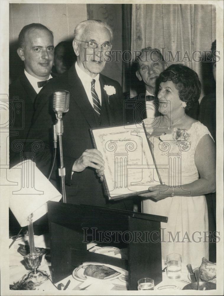
[[[33,213],[36,221],[47,213],[48,200],[59,201],[60,192],[41,173],[32,160],[26,160],[7,171],[9,207],[20,226],[27,225],[27,217]]]

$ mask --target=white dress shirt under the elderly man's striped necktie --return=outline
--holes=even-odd
[[[85,89],[85,92],[86,92],[87,97],[90,101],[90,104],[92,105],[92,108],[93,108],[93,101],[92,101],[92,94],[91,94],[91,81],[92,81],[92,79],[95,79],[95,81],[96,81],[95,82],[95,91],[98,95],[98,98],[100,100],[100,105],[101,105],[101,88],[100,88],[100,81],[99,81],[100,74],[97,74],[96,77],[92,78],[90,75],[85,73],[82,69],[80,69],[77,62],[75,63],[75,70],[77,72],[77,75],[79,76],[79,79],[82,82],[82,85]]]

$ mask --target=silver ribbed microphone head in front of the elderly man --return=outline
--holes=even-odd
[[[59,89],[53,93],[53,110],[54,112],[65,113],[69,111],[69,91]]]

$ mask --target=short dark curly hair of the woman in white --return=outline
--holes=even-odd
[[[176,64],[171,65],[160,73],[158,83],[172,81],[176,84],[181,101],[186,102],[186,110],[191,109],[201,94],[201,82],[197,73],[189,67]]]

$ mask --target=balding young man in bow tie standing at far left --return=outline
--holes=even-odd
[[[17,141],[24,142],[27,139],[35,98],[52,78],[51,68],[54,60],[53,33],[44,25],[26,25],[20,31],[18,41],[17,54],[24,62],[24,73],[9,85],[9,100],[13,101],[14,106],[12,124],[9,127],[10,165],[20,161],[14,145]]]

